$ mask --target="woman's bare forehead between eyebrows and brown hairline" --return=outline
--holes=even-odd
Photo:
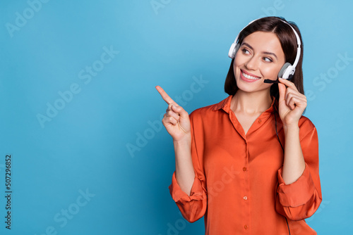
[[[285,56],[280,39],[273,32],[253,32],[245,37],[243,42],[252,46],[254,51],[268,51],[275,53],[277,56]]]

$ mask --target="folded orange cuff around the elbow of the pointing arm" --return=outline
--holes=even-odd
[[[178,201],[199,201],[203,199],[203,188],[200,179],[198,179],[197,174],[195,174],[195,179],[193,180],[193,186],[191,187],[190,196],[180,189],[180,186],[175,177],[175,172],[172,176],[172,184],[169,186],[169,192],[175,202]]]

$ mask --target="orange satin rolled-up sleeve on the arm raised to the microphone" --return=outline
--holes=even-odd
[[[304,132],[304,136],[300,140],[305,161],[304,172],[292,184],[285,184],[282,178],[282,167],[277,172],[276,210],[290,220],[303,220],[311,217],[322,201],[321,183],[318,174],[318,134],[316,127],[308,119],[304,121],[301,128],[301,133]]]

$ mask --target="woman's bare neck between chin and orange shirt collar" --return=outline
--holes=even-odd
[[[263,113],[272,104],[270,89],[268,91],[246,92],[240,89],[232,98],[230,108],[234,113],[245,113],[253,115]]]

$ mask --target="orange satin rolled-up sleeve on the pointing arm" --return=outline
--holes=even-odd
[[[198,153],[202,153],[201,149],[196,146],[195,130],[193,125],[193,113],[190,115],[191,120],[191,157],[193,161],[193,169],[195,170],[195,178],[191,187],[190,196],[180,189],[180,186],[175,177],[175,172],[172,176],[172,184],[169,186],[169,192],[181,212],[181,215],[189,221],[195,222],[199,220],[207,208],[207,191],[205,187],[205,176],[203,167],[201,167]]]

